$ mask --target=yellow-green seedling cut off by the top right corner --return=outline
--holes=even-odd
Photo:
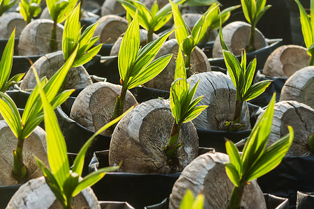
[[[300,20],[301,20],[301,28],[304,37],[304,42],[306,47],[308,48],[308,55],[311,56],[310,62],[308,65],[313,65],[314,61],[314,1],[311,0],[311,14],[308,15],[306,10],[302,6],[299,0],[294,0],[297,2],[300,10]]]

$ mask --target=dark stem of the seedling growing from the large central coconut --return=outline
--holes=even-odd
[[[177,149],[182,145],[181,143],[178,144],[180,127],[181,124],[177,124],[176,121],[174,121],[168,144],[164,147],[165,153],[168,158],[174,157]]]

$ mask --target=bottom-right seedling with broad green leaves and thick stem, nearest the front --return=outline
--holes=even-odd
[[[273,95],[262,118],[260,118],[248,137],[242,155],[239,154],[237,146],[234,146],[232,141],[226,141],[225,147],[230,157],[230,163],[225,164],[225,171],[234,184],[228,203],[230,209],[241,208],[244,187],[251,180],[260,178],[260,176],[276,168],[292,145],[294,132],[292,127],[288,126],[289,134],[266,148],[271,133],[275,100],[276,95]]]

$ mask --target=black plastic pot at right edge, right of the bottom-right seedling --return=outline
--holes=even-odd
[[[283,157],[274,170],[257,179],[263,192],[288,198],[296,206],[297,191],[314,191],[314,157]]]

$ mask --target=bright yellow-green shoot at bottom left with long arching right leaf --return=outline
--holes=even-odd
[[[107,123],[100,130],[98,130],[98,132],[91,136],[84,146],[82,146],[80,152],[75,158],[73,166],[70,167],[66,150],[66,141],[61,133],[57,116],[54,114],[53,107],[50,105],[45,91],[41,88],[36,70],[34,70],[34,74],[39,86],[40,98],[43,102],[45,130],[47,132],[47,155],[50,169],[48,169],[37,157],[36,162],[43,171],[43,176],[45,176],[47,185],[49,185],[63,208],[70,209],[72,208],[71,203],[73,196],[76,196],[83,189],[91,187],[97,183],[98,180],[105,176],[105,172],[119,169],[119,167],[107,167],[98,169],[98,171],[94,171],[93,173],[89,173],[89,175],[84,178],[81,177],[84,166],[84,157],[91,142],[98,134],[100,134],[100,132],[103,132],[103,130],[107,129],[114,123],[117,123],[124,116],[124,114],[114,121]],[[130,111],[130,109],[128,111]],[[128,111],[126,111],[125,114]]]

